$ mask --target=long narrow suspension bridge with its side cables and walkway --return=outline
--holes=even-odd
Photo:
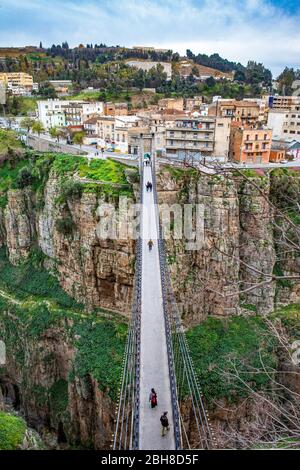
[[[140,162],[140,235],[114,450],[210,449],[215,438],[181,323],[159,221],[155,158]],[[153,190],[146,190],[146,182]],[[149,251],[148,241],[153,248]],[[151,409],[154,388],[158,406]],[[161,436],[160,416],[170,430]]]

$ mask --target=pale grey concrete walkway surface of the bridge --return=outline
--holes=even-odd
[[[144,167],[144,183],[146,184],[147,181],[152,181],[150,167]],[[157,237],[158,227],[153,193],[147,193],[144,185],[139,448],[141,450],[174,450],[175,439]],[[151,252],[148,248],[150,238],[154,242]],[[158,406],[153,410],[149,403],[151,388],[154,388],[158,395]],[[168,411],[170,431],[165,437],[161,437],[160,416],[164,411]]]

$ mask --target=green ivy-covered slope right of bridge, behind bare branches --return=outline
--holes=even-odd
[[[299,338],[299,304],[282,307],[270,319],[282,323],[291,344]],[[191,328],[187,339],[211,407],[222,399],[237,403],[252,390],[271,393],[271,377],[279,369],[280,344],[262,317],[211,317]]]

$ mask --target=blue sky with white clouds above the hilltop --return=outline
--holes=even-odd
[[[218,52],[300,68],[299,0],[0,0],[0,46],[68,41]]]

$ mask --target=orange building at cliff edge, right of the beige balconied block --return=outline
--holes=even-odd
[[[239,163],[269,163],[272,130],[233,123],[230,134],[230,158]]]

